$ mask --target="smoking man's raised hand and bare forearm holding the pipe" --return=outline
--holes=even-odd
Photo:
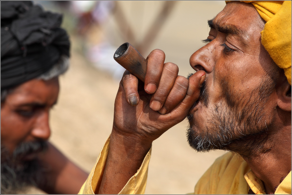
[[[180,123],[199,98],[204,71],[197,71],[189,79],[177,76],[177,65],[164,64],[161,50],[152,51],[147,59],[144,88],[129,72],[120,82],[109,154],[95,193],[119,193],[140,168],[152,142]],[[131,103],[132,97],[136,97],[135,103]]]

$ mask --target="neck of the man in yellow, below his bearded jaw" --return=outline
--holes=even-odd
[[[248,142],[247,139],[245,142],[237,140],[228,148],[243,157],[263,181],[267,194],[274,193],[282,177],[285,178],[291,170],[291,120],[285,124],[269,127],[253,135]]]

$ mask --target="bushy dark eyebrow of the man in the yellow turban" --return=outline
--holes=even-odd
[[[216,29],[221,33],[237,35],[241,37],[243,44],[247,44],[243,39],[243,37],[246,37],[246,33],[238,29],[235,25],[220,25],[219,23],[214,23],[214,18],[208,20],[208,25],[210,28]]]

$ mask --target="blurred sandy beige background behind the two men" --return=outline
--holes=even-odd
[[[166,62],[187,76],[192,53],[209,32],[207,20],[224,1],[34,1],[64,14],[71,39],[71,66],[61,76],[57,105],[51,111],[50,141],[90,172],[111,133],[114,100],[124,72],[113,59],[131,43],[146,58],[162,49]],[[185,194],[223,151],[197,153],[186,140],[184,120],[153,142],[146,194]],[[31,189],[28,193],[44,193]]]

